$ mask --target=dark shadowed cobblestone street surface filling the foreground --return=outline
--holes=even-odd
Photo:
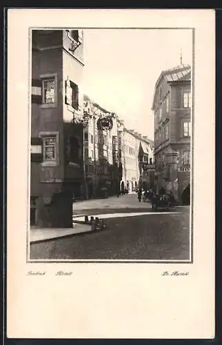
[[[189,207],[184,207],[179,208],[177,214],[105,219],[108,229],[101,232],[32,244],[30,259],[188,261],[189,210]],[[101,213],[101,209],[97,212]]]

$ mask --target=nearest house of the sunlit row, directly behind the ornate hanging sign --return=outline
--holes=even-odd
[[[84,96],[84,164],[87,198],[108,197],[117,193],[119,161],[117,157],[117,115]],[[110,118],[110,128],[100,128],[101,118]]]

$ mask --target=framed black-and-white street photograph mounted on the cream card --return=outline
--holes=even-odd
[[[30,28],[28,260],[192,262],[192,28]]]

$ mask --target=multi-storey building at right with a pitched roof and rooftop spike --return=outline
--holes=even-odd
[[[191,68],[181,64],[161,72],[155,85],[154,157],[156,190],[171,190],[190,203]]]

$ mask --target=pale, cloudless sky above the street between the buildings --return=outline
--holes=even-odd
[[[84,30],[83,92],[154,139],[154,86],[162,70],[180,64],[180,52],[191,65],[191,30]]]

